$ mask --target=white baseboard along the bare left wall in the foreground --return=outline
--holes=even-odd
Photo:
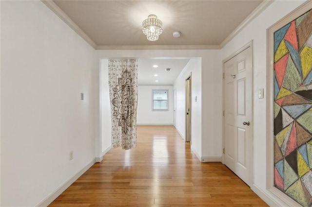
[[[72,185],[83,173],[85,173],[92,165],[96,163],[95,159],[92,159],[84,168],[82,168],[78,173],[74,174],[71,178],[66,180],[59,188],[54,190],[50,195],[44,198],[36,207],[47,207],[51,204],[64,190],[66,190],[70,185]]]

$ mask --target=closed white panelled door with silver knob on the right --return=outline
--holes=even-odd
[[[251,186],[253,123],[251,122],[252,49],[250,47],[224,63],[223,84],[224,164]]]

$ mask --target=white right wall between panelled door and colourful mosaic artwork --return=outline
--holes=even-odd
[[[225,59],[239,50],[249,41],[254,40],[254,188],[263,195],[273,195],[266,190],[266,99],[257,99],[259,88],[266,88],[267,68],[267,33],[266,30],[293,9],[302,4],[297,1],[274,1],[260,16],[256,17],[243,31],[230,41],[221,51],[221,59]],[[259,113],[261,112],[261,113]],[[278,201],[275,198],[275,201]],[[285,204],[278,201],[282,206]]]

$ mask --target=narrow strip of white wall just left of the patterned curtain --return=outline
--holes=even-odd
[[[102,157],[112,147],[111,133],[112,133],[112,119],[111,119],[111,104],[109,98],[108,85],[108,60],[102,59],[100,62],[100,114],[101,114],[101,155]]]

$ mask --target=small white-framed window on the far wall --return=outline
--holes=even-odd
[[[152,110],[168,111],[168,90],[153,90]]]

